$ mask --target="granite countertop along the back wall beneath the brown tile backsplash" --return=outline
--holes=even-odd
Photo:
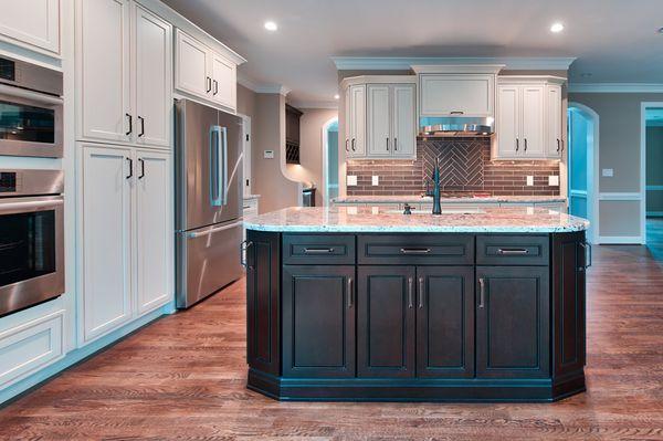
[[[443,197],[442,203],[555,203],[566,202],[564,196],[464,196]],[[345,196],[334,198],[336,203],[433,203],[430,196]]]

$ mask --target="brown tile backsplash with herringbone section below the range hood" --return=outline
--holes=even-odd
[[[348,196],[418,195],[425,191],[424,177],[432,175],[440,158],[441,188],[445,192],[490,192],[496,196],[557,196],[559,187],[548,186],[548,176],[559,176],[559,162],[551,160],[491,160],[488,138],[443,138],[418,140],[417,160],[349,160],[347,174],[357,176]],[[380,177],[372,186],[371,177]],[[527,176],[534,176],[528,187]]]

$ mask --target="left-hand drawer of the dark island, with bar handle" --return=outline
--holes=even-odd
[[[284,234],[286,265],[341,265],[355,263],[354,235]]]

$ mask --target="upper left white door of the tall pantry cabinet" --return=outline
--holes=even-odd
[[[128,0],[78,0],[77,29],[82,136],[128,141],[130,53]],[[133,122],[136,128],[136,122]]]

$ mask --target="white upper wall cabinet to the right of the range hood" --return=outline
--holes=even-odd
[[[494,159],[560,158],[564,81],[551,76],[499,77]]]

